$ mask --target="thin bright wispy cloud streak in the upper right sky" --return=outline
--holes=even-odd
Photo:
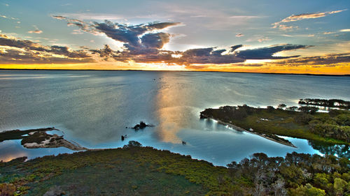
[[[294,28],[297,28],[297,27],[286,26],[285,24],[281,24],[281,23],[294,22],[294,21],[299,21],[299,20],[304,20],[304,19],[311,19],[311,18],[318,18],[318,17],[325,17],[327,15],[340,13],[342,11],[345,11],[345,10],[335,10],[335,11],[323,12],[323,13],[302,13],[302,14],[298,14],[298,15],[290,15],[290,16],[284,18],[283,20],[281,20],[279,22],[273,23],[272,25],[274,26],[273,28],[279,28],[279,29],[282,29],[282,30],[294,29]]]

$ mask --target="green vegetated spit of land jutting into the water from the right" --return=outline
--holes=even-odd
[[[201,118],[218,119],[256,133],[297,137],[328,144],[350,142],[350,111],[331,110],[317,112],[316,107],[286,107],[279,105],[255,108],[247,105],[224,106],[219,109],[206,109]],[[299,110],[301,112],[297,112]]]

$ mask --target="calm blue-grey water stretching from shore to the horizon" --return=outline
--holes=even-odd
[[[211,120],[207,107],[247,104],[297,105],[299,98],[350,100],[350,77],[144,71],[0,71],[0,130],[55,126],[87,148],[115,148],[137,140],[226,165],[255,152],[324,153],[307,140],[288,138],[297,149]],[[135,132],[139,121],[155,127]],[[125,141],[120,135],[127,134]],[[182,145],[186,141],[186,145]],[[339,148],[339,146],[337,146]],[[341,147],[341,146],[340,146]],[[332,151],[332,146],[326,148]],[[339,149],[338,149],[339,150]],[[0,143],[0,159],[35,158],[69,149],[24,149],[19,140]]]

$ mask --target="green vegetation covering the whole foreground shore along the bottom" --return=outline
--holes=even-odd
[[[349,195],[347,158],[255,153],[216,167],[140,145],[0,163],[0,195]]]

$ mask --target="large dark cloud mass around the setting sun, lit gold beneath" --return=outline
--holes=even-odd
[[[34,56],[64,56],[69,61],[86,59],[86,61],[123,61],[137,63],[169,63],[178,65],[198,65],[198,64],[229,64],[244,63],[248,59],[288,59],[295,56],[274,56],[277,52],[286,50],[297,50],[306,48],[306,45],[272,45],[269,47],[260,47],[251,50],[239,50],[243,45],[233,45],[230,50],[220,49],[217,47],[206,47],[180,51],[163,50],[162,47],[169,43],[172,34],[162,32],[167,27],[174,27],[179,22],[153,22],[147,24],[120,24],[113,23],[108,20],[104,22],[84,22],[82,20],[70,19],[63,16],[52,16],[58,20],[66,20],[67,24],[78,27],[77,31],[85,31],[89,33],[103,33],[107,37],[123,43],[123,49],[114,51],[105,45],[104,48],[95,50],[83,47],[83,50],[71,50],[69,47],[59,45],[40,45],[30,40],[21,40],[17,38],[9,38],[1,36],[0,45],[8,47],[17,47],[18,50],[25,50],[27,56],[35,59]],[[261,38],[260,42],[269,40],[269,38]],[[11,49],[12,50],[12,49]],[[29,55],[30,54],[36,55]],[[14,55],[17,55],[13,52]],[[39,55],[40,54],[40,55]],[[16,59],[16,58],[14,58]],[[49,59],[50,60],[50,59]],[[36,59],[36,61],[38,61]],[[57,61],[57,60],[55,60]],[[63,60],[62,60],[63,61]]]

